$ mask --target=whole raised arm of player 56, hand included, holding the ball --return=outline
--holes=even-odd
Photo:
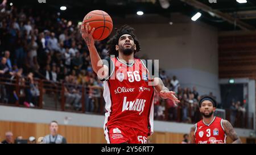
[[[92,68],[97,73],[99,78],[105,78],[108,76],[108,66],[104,65],[100,55],[98,55],[97,49],[94,45],[93,32],[95,28],[89,33],[89,23],[81,24],[81,35],[84,39],[90,53],[90,61],[92,62]],[[99,72],[100,71],[100,72]]]

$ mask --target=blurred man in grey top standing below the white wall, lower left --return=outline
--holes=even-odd
[[[59,135],[58,132],[59,125],[56,121],[52,121],[49,124],[50,134],[44,137],[44,143],[46,144],[67,144],[65,137]]]

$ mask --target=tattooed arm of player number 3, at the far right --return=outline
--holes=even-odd
[[[234,128],[228,122],[228,120],[222,120],[222,125],[224,127],[226,135],[228,137],[230,137],[230,139],[233,140],[233,144],[241,144],[242,143],[240,137],[237,136],[236,131],[234,131]]]

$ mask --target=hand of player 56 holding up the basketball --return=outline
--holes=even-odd
[[[84,24],[84,22],[82,22],[80,26],[81,35],[85,43],[87,44],[87,46],[94,45],[94,39],[92,35],[95,28],[93,28],[92,31],[90,31],[90,33],[89,33],[89,29],[90,29],[89,23]]]

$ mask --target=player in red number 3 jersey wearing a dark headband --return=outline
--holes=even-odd
[[[213,115],[216,105],[216,101],[211,97],[203,97],[200,100],[199,108],[203,119],[191,128],[191,143],[221,144],[226,143],[226,136],[230,137],[233,143],[242,143],[228,120]]]

